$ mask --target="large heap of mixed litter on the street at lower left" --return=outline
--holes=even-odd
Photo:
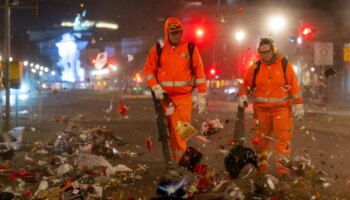
[[[119,199],[123,197],[113,193],[116,188],[142,179],[147,167],[133,170],[107,160],[142,154],[117,150],[126,143],[112,130],[82,128],[69,118],[63,122],[64,131],[53,140],[35,142],[17,165],[8,160],[21,147],[24,128],[5,134],[0,143],[0,199]]]

